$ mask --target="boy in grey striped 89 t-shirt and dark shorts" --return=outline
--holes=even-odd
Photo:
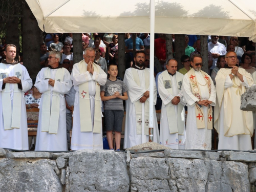
[[[123,121],[123,100],[128,99],[126,84],[117,79],[117,65],[110,64],[108,66],[109,78],[104,86],[100,88],[101,100],[104,101],[105,107],[105,124],[106,138],[109,142],[109,147],[113,149],[112,132],[115,131],[116,150],[120,151],[121,131]]]

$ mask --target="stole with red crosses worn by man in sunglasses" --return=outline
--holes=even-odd
[[[202,70],[200,71],[204,77],[204,80],[206,82],[206,86],[208,88],[209,94],[210,94],[210,87],[211,87],[211,80],[210,80],[210,76],[203,72]],[[188,76],[189,82],[190,82],[190,88],[192,93],[201,101],[201,91],[200,91],[200,86],[199,83],[197,81],[197,77],[195,74],[194,69],[189,70],[186,75]],[[196,104],[195,105],[195,111],[196,111],[196,119],[197,119],[197,129],[202,129],[205,128],[205,116],[203,113],[203,108],[205,108],[206,106],[203,105],[199,105]],[[212,117],[212,106],[208,105],[208,109],[207,109],[207,129],[208,130],[212,130],[212,121],[213,121],[213,117]]]

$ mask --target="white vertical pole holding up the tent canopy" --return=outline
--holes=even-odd
[[[154,135],[154,48],[155,48],[155,0],[150,0],[150,124],[148,141],[152,142]]]

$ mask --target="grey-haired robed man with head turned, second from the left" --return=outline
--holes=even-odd
[[[37,74],[35,87],[42,93],[36,137],[36,151],[67,151],[66,102],[72,88],[69,71],[59,65],[61,53],[51,51],[47,68]]]

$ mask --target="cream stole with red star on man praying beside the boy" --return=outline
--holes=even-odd
[[[87,71],[87,65],[84,60],[78,63],[78,68],[80,73]],[[93,63],[94,72],[99,74],[100,67]],[[92,127],[92,116],[91,116],[91,104],[89,95],[88,81],[79,84],[79,112],[80,112],[80,131],[81,132],[91,132],[101,133],[101,98],[100,98],[100,85],[97,81],[96,83],[96,93],[94,98],[94,122]]]

